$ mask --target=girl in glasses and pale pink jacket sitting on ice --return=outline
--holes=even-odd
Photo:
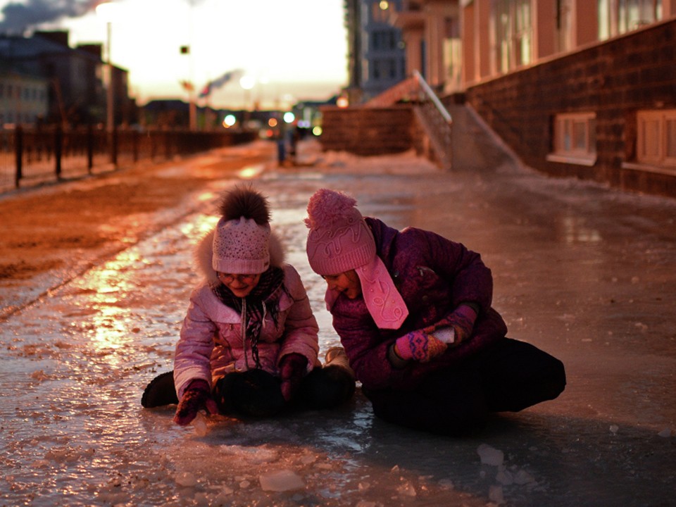
[[[355,381],[342,349],[318,359],[318,326],[296,269],[270,228],[267,199],[236,187],[201,240],[204,275],[190,296],[173,373],[144,392],[146,408],[178,403],[174,421],[198,411],[270,416],[291,404],[325,408],[351,398]]]

